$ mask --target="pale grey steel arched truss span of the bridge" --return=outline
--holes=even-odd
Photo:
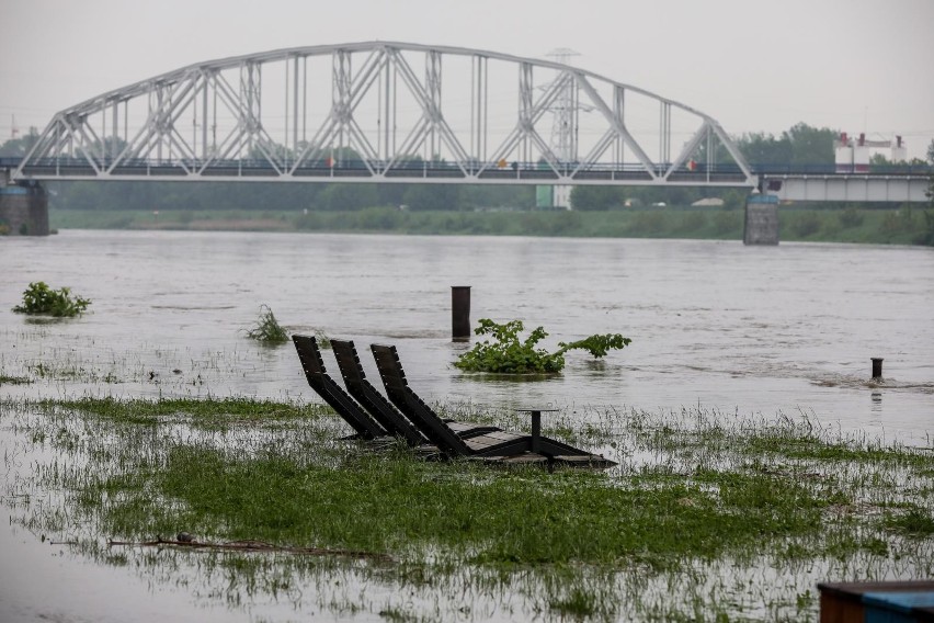
[[[56,114],[12,178],[758,182],[691,106],[561,63],[386,42],[198,63],[100,94]]]

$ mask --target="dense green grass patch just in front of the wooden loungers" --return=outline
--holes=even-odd
[[[340,469],[277,456],[176,448],[152,485],[181,502],[180,525],[229,539],[398,553],[413,544],[481,565],[665,567],[742,552],[764,536],[813,536],[827,502],[771,477],[608,487],[600,474],[496,474],[480,465],[367,456]],[[112,483],[102,483],[111,488]],[[115,509],[116,510],[116,509]],[[121,510],[119,517],[125,517]],[[145,517],[138,525],[145,526]],[[132,522],[130,522],[132,523]],[[125,521],[116,531],[129,528]],[[143,536],[145,534],[138,534]]]

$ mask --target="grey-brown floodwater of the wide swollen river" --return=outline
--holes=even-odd
[[[2,239],[0,261],[0,374],[33,381],[3,384],[4,397],[317,401],[291,344],[266,348],[246,337],[260,306],[269,305],[291,332],[353,339],[364,355],[369,343],[395,343],[410,384],[430,403],[550,405],[580,409],[581,417],[605,406],[804,412],[910,445],[930,445],[934,432],[931,249],[64,231]],[[13,314],[35,281],[91,299],[89,313],[61,321]],[[452,362],[469,344],[451,339],[455,285],[471,286],[475,325],[479,318],[540,325],[549,349],[602,332],[633,343],[601,361],[572,352],[562,374],[535,382],[462,373]],[[880,381],[870,380],[870,358],[885,359]],[[326,363],[337,372],[332,359]],[[133,616],[102,605],[100,593],[138,594],[122,603],[145,614],[158,611],[153,590],[167,590],[59,553],[12,526],[0,528],[0,613],[39,618],[30,604],[50,599],[53,613],[80,613],[73,620],[127,620]],[[69,587],[68,594],[49,597],[41,579]],[[14,590],[19,597],[11,597]],[[78,600],[75,609],[69,599]],[[195,609],[178,620],[219,620],[225,612]]]

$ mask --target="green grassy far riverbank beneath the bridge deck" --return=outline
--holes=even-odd
[[[743,211],[639,207],[607,212],[409,212],[372,207],[305,211],[49,211],[54,229],[379,233],[400,235],[557,236],[572,238],[742,239]],[[783,241],[922,245],[934,219],[921,207],[779,208]]]

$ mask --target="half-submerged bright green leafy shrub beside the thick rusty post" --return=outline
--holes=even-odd
[[[524,329],[522,320],[511,320],[500,325],[489,318],[481,318],[480,326],[474,330],[478,336],[490,335],[496,341],[483,340],[462,354],[454,365],[471,372],[496,372],[500,374],[525,374],[560,372],[565,367],[565,353],[571,349],[582,349],[595,358],[606,355],[611,349],[622,349],[633,340],[619,333],[594,335],[583,340],[565,343],[549,353],[535,348],[548,333],[542,327],[520,341],[519,333]]]

